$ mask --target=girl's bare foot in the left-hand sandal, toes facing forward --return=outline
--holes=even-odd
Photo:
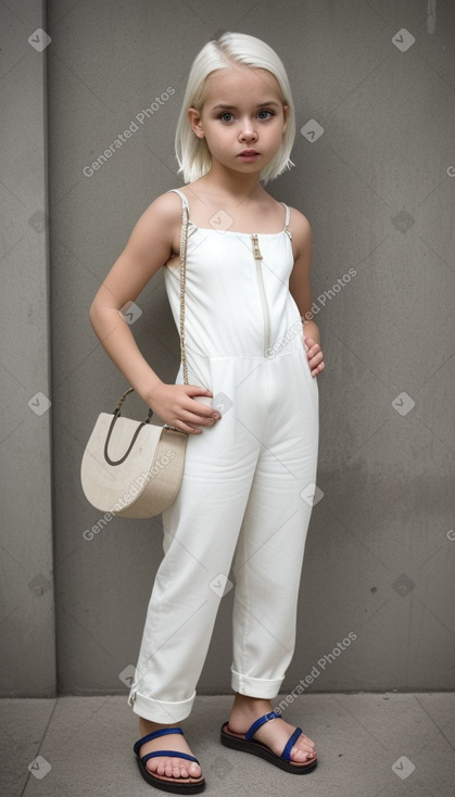
[[[178,723],[174,725],[161,725],[157,722],[150,722],[144,720],[142,717],[139,720],[139,732],[140,737],[147,736],[148,733],[160,731],[162,728],[178,728]],[[139,750],[139,756],[147,756],[148,752],[154,752],[155,750],[177,750],[178,752],[188,752],[190,756],[190,748],[188,747],[185,736],[180,733],[166,734],[165,736],[159,736],[151,742],[146,742]],[[149,772],[155,775],[165,777],[201,777],[201,768],[194,761],[187,761],[185,758],[172,758],[170,756],[156,756],[155,758],[149,758],[146,762],[146,767]]]

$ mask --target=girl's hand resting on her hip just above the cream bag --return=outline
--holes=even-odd
[[[147,403],[168,426],[188,434],[201,434],[200,427],[214,426],[222,415],[213,407],[198,402],[194,396],[213,399],[213,394],[206,388],[162,382],[155,387],[153,396],[149,396]]]

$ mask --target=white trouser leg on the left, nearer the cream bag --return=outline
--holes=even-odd
[[[170,724],[191,711],[257,454],[242,430],[226,444],[222,421],[188,441],[179,495],[163,514],[165,557],[129,696],[140,717]]]

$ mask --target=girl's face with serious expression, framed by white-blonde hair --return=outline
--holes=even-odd
[[[208,75],[205,88],[201,112],[189,109],[188,116],[213,162],[236,172],[261,172],[276,155],[289,118],[276,77],[235,64]]]

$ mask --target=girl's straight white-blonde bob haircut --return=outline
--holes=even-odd
[[[294,164],[290,160],[295,137],[295,110],[285,66],[276,52],[254,36],[225,33],[219,39],[208,41],[194,59],[188,78],[184,104],[177,123],[175,149],[179,164],[178,173],[184,173],[185,182],[193,182],[205,175],[212,165],[212,155],[204,138],[198,138],[188,118],[188,109],[202,110],[205,101],[205,79],[215,69],[225,69],[232,62],[267,69],[276,79],[282,101],[289,105],[289,121],[283,140],[275,157],[261,172],[265,185]]]

